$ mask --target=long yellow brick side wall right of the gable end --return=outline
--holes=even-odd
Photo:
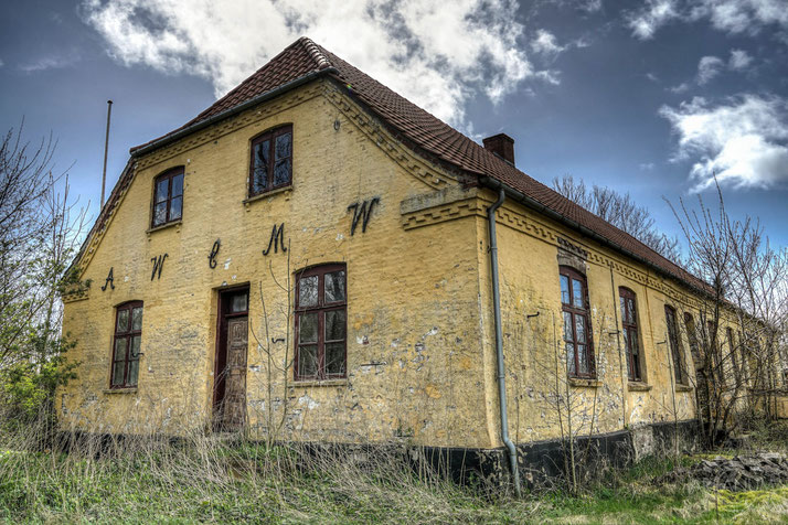
[[[476,204],[482,338],[490,371],[496,366],[496,351],[484,213],[496,197],[484,191]],[[652,269],[512,200],[497,212],[497,225],[509,432],[515,442],[695,418],[695,367],[682,315],[694,312],[699,319],[696,297]],[[593,381],[567,379],[558,275],[558,267],[566,264],[575,265],[587,280],[596,361]],[[620,287],[636,294],[643,371],[639,382],[630,382],[627,373]],[[689,376],[685,385],[674,381],[665,306],[677,310],[680,354]],[[720,333],[727,326],[738,332],[735,319],[730,321]],[[733,374],[732,368],[728,372]],[[494,373],[486,373],[486,379],[490,439],[500,444]],[[567,408],[572,411],[571,430]]]

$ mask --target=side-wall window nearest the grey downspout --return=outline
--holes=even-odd
[[[586,278],[567,266],[560,268],[560,275],[567,372],[573,377],[594,377],[596,371],[588,322]]]

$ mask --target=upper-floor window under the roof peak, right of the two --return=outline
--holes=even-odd
[[[292,126],[266,131],[252,141],[249,196],[284,188],[292,181]]]

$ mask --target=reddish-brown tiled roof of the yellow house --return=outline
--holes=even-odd
[[[131,153],[151,151],[191,130],[199,129],[201,124],[221,119],[223,115],[232,115],[235,108],[245,107],[246,104],[263,98],[266,94],[287,89],[288,86],[297,85],[299,79],[309,79],[319,75],[328,75],[349,86],[348,93],[376,114],[396,135],[438,160],[476,175],[480,181],[503,184],[522,194],[531,205],[565,221],[586,235],[590,234],[598,240],[686,285],[709,289],[702,280],[631,235],[526,175],[306,36],[290,44],[241,85],[181,128],[132,148]]]

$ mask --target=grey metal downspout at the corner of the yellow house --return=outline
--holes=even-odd
[[[498,194],[496,201],[487,208],[487,219],[490,226],[490,270],[492,274],[492,308],[496,322],[496,355],[498,357],[498,395],[501,408],[501,440],[509,450],[509,467],[514,481],[514,493],[522,496],[520,490],[520,471],[518,470],[518,450],[509,438],[509,417],[507,416],[507,375],[503,366],[503,335],[501,330],[501,293],[498,287],[498,237],[496,236],[496,210],[498,210],[507,194],[503,189]]]

